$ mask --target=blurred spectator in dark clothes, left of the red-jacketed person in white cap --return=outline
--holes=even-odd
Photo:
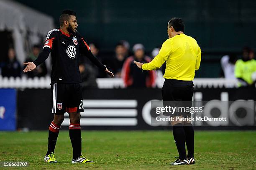
[[[106,63],[109,70],[115,74],[115,77],[120,77],[124,61],[125,47],[122,43],[118,43],[115,46],[115,56],[113,58],[105,60],[103,63]]]

